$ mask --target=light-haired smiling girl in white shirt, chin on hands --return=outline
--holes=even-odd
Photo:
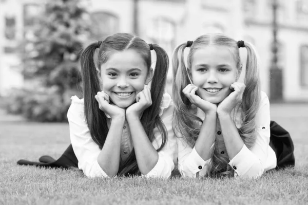
[[[187,67],[186,47],[190,47]],[[247,50],[244,83],[238,82],[241,47]],[[175,49],[172,66],[174,130],[183,177],[256,178],[277,166],[277,149],[269,146],[269,101],[260,91],[257,56],[251,44],[222,34],[202,35]],[[294,165],[292,156],[281,165]]]

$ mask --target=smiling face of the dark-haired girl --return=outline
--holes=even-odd
[[[125,108],[136,102],[136,95],[152,77],[141,55],[129,49],[112,53],[101,66],[102,88],[110,100]]]

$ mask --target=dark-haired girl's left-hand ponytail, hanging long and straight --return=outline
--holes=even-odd
[[[80,64],[83,83],[84,113],[91,137],[100,148],[103,147],[107,134],[107,119],[99,104],[95,99],[100,89],[98,72],[94,65],[94,52],[98,47],[98,42],[91,43],[81,53]]]

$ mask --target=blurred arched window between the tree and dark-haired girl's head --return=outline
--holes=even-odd
[[[108,12],[91,13],[93,37],[104,40],[107,36],[119,32],[119,18]]]

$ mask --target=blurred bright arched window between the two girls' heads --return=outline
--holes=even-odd
[[[148,29],[148,37],[153,44],[163,47],[171,56],[175,48],[175,23],[168,18],[158,17],[152,21]]]

